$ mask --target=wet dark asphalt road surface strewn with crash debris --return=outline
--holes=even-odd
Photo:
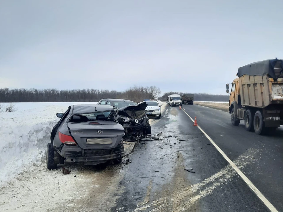
[[[268,201],[283,211],[283,130],[258,136],[231,125],[227,112],[183,105]],[[139,142],[123,165],[111,211],[269,211],[179,107],[152,122],[160,140]],[[162,132],[162,133],[161,133]],[[167,136],[172,136],[165,138]],[[125,158],[126,159],[126,158]],[[193,168],[195,173],[184,168]]]

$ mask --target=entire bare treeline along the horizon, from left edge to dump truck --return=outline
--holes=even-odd
[[[103,98],[127,99],[141,102],[144,99],[157,99],[161,91],[156,86],[133,86],[125,91],[115,90],[56,90],[56,89],[0,89],[0,102],[97,102]],[[182,92],[167,92],[159,100],[167,100],[168,95]],[[198,93],[195,101],[229,101],[228,95]]]

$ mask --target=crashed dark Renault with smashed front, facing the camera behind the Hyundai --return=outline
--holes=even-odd
[[[136,103],[130,100],[123,99],[102,99],[98,105],[111,105],[117,107],[118,122],[123,125],[125,135],[123,140],[134,141],[137,136],[150,135],[151,126],[149,118],[146,115],[146,102]]]

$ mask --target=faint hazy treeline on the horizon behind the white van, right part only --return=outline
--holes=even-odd
[[[171,94],[180,94],[183,95],[184,92],[167,92],[162,95],[162,97],[159,97],[158,100],[165,100],[167,101],[167,98]],[[228,102],[229,101],[229,95],[217,95],[217,94],[207,94],[207,93],[194,93],[194,101],[212,101],[212,102]]]

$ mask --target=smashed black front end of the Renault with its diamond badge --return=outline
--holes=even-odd
[[[151,133],[149,118],[146,115],[146,102],[138,105],[121,107],[118,112],[118,122],[125,129],[123,140],[134,141],[137,136]],[[149,131],[150,129],[150,131]]]

